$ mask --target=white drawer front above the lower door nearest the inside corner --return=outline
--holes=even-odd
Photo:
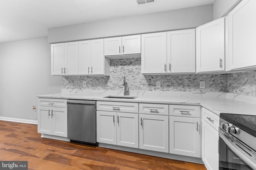
[[[170,116],[200,117],[200,106],[169,105]]]

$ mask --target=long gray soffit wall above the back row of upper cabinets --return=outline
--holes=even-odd
[[[48,29],[48,43],[192,28],[212,21],[212,4]]]

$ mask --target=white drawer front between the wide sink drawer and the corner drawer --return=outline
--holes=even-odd
[[[142,114],[168,115],[168,104],[141,104],[139,112]]]

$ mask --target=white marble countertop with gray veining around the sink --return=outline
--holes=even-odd
[[[132,90],[130,91],[130,96],[137,96],[136,99],[104,98],[110,95],[123,96],[123,91],[62,89],[61,93],[39,95],[36,97],[112,102],[197,105],[205,107],[217,115],[220,115],[220,113],[256,115],[256,97],[232,93]]]

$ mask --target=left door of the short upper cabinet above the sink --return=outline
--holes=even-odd
[[[104,38],[104,55],[122,54],[122,37]]]

